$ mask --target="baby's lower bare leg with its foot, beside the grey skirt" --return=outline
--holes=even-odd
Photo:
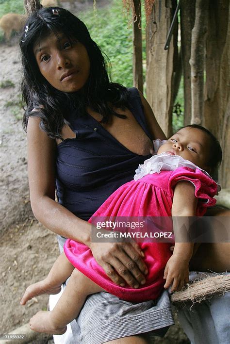
[[[91,279],[74,269],[66,288],[52,311],[39,311],[30,320],[33,331],[63,334],[66,325],[80,313],[88,295],[104,292]]]

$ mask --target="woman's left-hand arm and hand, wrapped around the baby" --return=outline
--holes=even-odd
[[[55,202],[56,143],[39,128],[40,119],[30,117],[28,177],[34,216],[48,229],[89,246],[95,259],[117,284],[134,287],[145,279],[146,265],[136,243],[92,243],[91,224]],[[118,272],[118,274],[116,273]]]

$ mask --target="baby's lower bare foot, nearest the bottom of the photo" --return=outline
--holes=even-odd
[[[33,331],[50,333],[50,334],[63,334],[66,332],[66,326],[59,328],[51,319],[51,311],[39,311],[30,319],[30,327]]]

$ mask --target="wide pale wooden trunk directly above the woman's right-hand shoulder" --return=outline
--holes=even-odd
[[[177,56],[177,28],[168,50],[166,36],[176,9],[176,0],[155,1],[147,25],[147,99],[157,121],[168,136],[172,133],[173,72]]]

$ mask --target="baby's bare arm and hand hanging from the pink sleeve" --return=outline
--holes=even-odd
[[[166,279],[164,288],[171,285],[172,292],[180,290],[188,282],[188,264],[193,254],[194,244],[187,243],[186,240],[183,242],[182,238],[183,234],[186,236],[188,230],[189,219],[186,220],[186,217],[196,216],[196,209],[197,198],[194,185],[190,181],[179,181],[174,190],[172,204],[175,248],[164,269]]]

